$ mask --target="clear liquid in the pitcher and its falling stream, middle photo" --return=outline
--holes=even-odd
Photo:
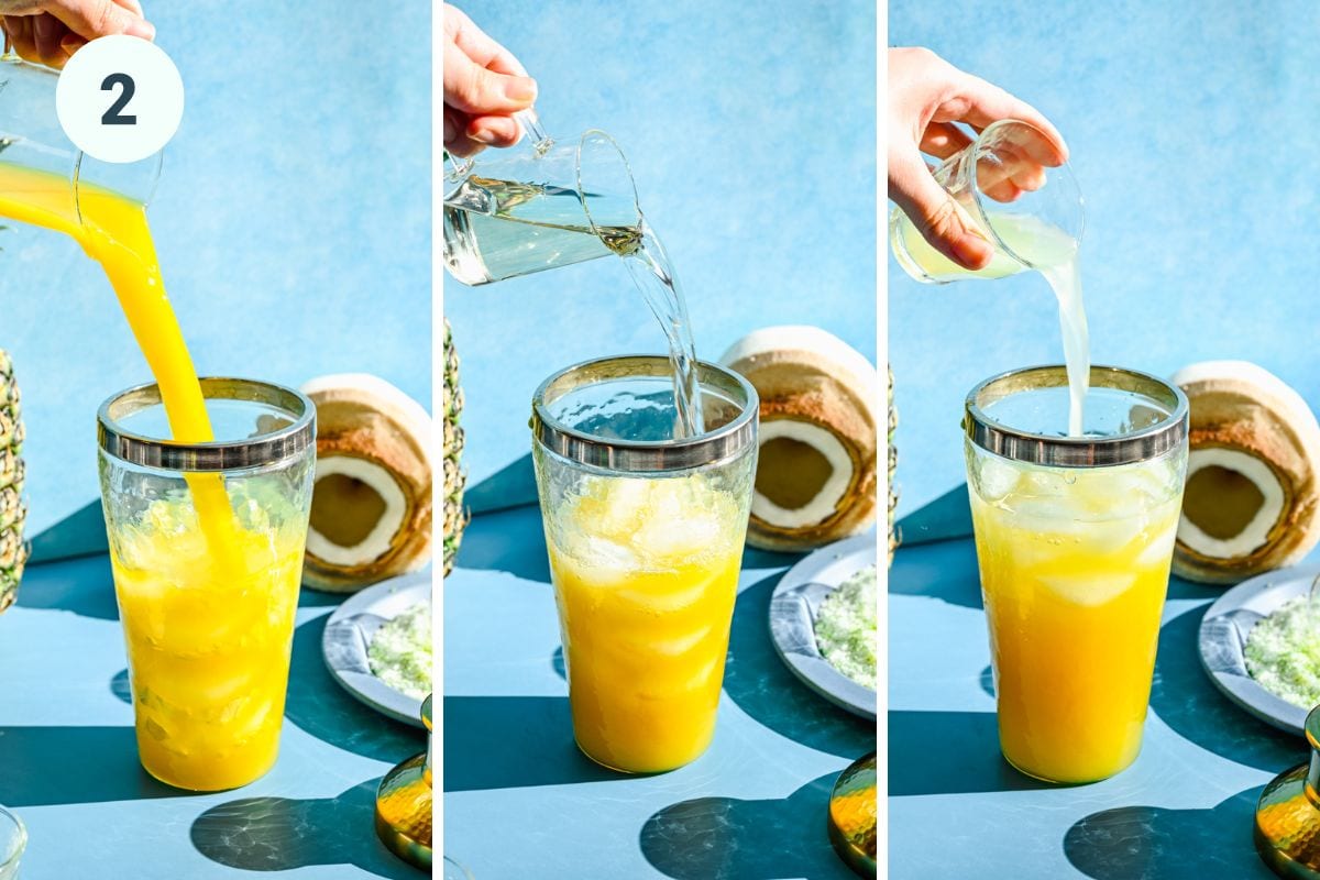
[[[668,342],[675,437],[705,430],[697,350],[682,288],[664,245],[631,199],[473,175],[445,203],[445,237],[454,274],[477,282],[610,253],[623,257]]]

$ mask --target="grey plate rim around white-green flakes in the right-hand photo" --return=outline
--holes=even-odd
[[[1307,710],[1261,687],[1246,670],[1247,633],[1288,599],[1311,590],[1320,566],[1270,571],[1233,587],[1201,617],[1201,666],[1224,695],[1279,730],[1304,736]]]

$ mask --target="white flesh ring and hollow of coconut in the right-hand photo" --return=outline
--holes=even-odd
[[[1283,503],[1279,478],[1259,458],[1234,449],[1192,450],[1177,540],[1205,557],[1250,555],[1269,542]]]

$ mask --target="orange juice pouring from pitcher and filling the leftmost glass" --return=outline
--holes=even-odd
[[[81,215],[63,177],[0,162],[0,216],[62,232],[102,265],[173,439],[213,439],[145,208],[88,186],[78,204]],[[298,517],[277,512],[247,521],[264,500],[248,500],[240,521],[219,474],[183,478],[189,492],[152,501],[132,522],[107,516],[111,566],[143,767],[170,785],[218,790],[255,780],[276,759],[304,532]]]

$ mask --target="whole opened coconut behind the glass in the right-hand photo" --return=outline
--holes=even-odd
[[[1173,571],[1233,583],[1320,541],[1320,425],[1278,376],[1242,360],[1173,373],[1191,404],[1191,451]]]

